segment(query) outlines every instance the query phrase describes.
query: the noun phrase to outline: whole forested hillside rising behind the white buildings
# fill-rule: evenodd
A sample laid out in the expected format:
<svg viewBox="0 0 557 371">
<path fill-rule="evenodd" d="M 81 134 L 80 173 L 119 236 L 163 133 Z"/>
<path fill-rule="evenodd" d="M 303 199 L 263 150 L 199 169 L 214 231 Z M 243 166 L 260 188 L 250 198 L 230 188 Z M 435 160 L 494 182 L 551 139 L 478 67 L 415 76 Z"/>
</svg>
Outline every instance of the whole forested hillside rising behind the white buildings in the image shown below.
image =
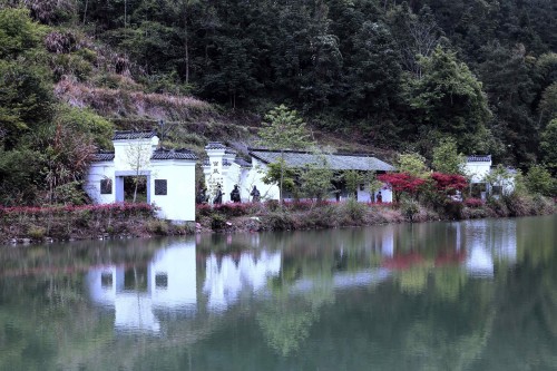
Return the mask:
<svg viewBox="0 0 557 371">
<path fill-rule="evenodd" d="M 43 158 L 67 137 L 102 146 L 126 120 L 278 104 L 373 147 L 431 158 L 452 136 L 466 154 L 557 168 L 555 0 L 0 3 L 0 175 L 39 160 L 3 189 L 72 179 L 80 168 Z"/>
</svg>

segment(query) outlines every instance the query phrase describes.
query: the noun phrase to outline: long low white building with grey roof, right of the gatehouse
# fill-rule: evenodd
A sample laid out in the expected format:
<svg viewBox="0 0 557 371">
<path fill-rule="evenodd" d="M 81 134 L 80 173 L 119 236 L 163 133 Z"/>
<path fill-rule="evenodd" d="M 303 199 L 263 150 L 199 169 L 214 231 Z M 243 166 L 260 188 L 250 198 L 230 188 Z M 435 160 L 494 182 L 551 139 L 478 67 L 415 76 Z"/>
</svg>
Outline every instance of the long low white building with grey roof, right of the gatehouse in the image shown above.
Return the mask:
<svg viewBox="0 0 557 371">
<path fill-rule="evenodd" d="M 326 154 L 319 157 L 315 154 L 301 150 L 270 150 L 261 148 L 248 148 L 251 163 L 236 157 L 236 152 L 227 148 L 218 141 L 209 143 L 205 150 L 207 159 L 204 163 L 203 170 L 209 197 L 213 198 L 217 184 L 223 188 L 223 202 L 229 201 L 229 194 L 234 185 L 241 189 L 243 202 L 250 201 L 250 193 L 254 186 L 257 187 L 262 199 L 278 199 L 280 191 L 276 184 L 265 184 L 263 177 L 268 170 L 268 164 L 276 163 L 284 158 L 286 165 L 291 168 L 301 168 L 306 165 L 328 163 L 328 167 L 336 173 L 346 170 L 375 172 L 378 174 L 392 172 L 394 167 L 369 155 L 369 154 Z M 348 197 L 343 183 L 335 185 L 338 193 L 331 193 L 328 197 L 331 201 Z M 383 202 L 392 202 L 392 193 L 387 187 L 381 191 Z M 336 197 L 338 195 L 338 197 Z M 378 193 L 371 195 L 368 185 L 362 183 L 358 187 L 358 199 L 361 202 L 373 202 Z M 285 198 L 289 198 L 287 196 Z"/>
</svg>

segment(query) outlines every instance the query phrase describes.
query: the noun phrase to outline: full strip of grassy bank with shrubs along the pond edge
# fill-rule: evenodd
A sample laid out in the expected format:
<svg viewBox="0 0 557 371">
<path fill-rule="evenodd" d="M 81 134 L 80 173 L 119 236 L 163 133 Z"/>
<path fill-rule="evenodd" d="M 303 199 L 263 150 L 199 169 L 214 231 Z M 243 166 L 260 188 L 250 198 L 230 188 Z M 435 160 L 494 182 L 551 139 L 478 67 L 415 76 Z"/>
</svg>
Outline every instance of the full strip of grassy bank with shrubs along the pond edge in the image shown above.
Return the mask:
<svg viewBox="0 0 557 371">
<path fill-rule="evenodd" d="M 281 207 L 265 203 L 199 205 L 197 225 L 176 225 L 155 217 L 148 204 L 109 204 L 59 207 L 0 208 L 0 243 L 40 243 L 48 241 L 149 237 L 197 232 L 261 232 L 315 230 L 403 222 L 512 217 L 551 214 L 555 201 L 539 195 L 512 195 L 482 202 L 423 205 L 414 201 L 400 204 L 365 204 L 349 199 L 331 202 L 291 202 Z"/>
</svg>

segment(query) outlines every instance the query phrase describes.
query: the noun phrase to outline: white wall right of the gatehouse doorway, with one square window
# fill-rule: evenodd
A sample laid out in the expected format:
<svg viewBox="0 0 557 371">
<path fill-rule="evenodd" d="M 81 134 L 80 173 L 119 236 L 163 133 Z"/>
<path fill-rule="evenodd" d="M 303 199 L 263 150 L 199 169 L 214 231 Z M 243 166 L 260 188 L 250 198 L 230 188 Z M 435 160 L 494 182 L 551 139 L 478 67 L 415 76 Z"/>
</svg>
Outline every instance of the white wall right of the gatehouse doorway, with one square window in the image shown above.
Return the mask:
<svg viewBox="0 0 557 371">
<path fill-rule="evenodd" d="M 150 202 L 160 207 L 157 217 L 195 221 L 195 160 L 152 160 Z M 167 194 L 155 195 L 155 179 L 167 180 Z"/>
</svg>

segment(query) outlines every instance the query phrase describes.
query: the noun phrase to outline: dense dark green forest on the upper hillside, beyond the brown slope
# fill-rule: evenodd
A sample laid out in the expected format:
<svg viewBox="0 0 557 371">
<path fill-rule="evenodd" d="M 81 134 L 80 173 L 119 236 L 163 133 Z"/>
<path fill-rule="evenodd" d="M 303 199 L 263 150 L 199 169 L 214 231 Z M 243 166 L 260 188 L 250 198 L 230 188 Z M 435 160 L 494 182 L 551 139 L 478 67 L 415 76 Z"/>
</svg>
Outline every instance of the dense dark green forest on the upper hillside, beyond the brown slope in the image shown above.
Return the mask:
<svg viewBox="0 0 557 371">
<path fill-rule="evenodd" d="M 527 166 L 555 116 L 557 4 L 541 0 L 77 1 L 70 16 L 175 89 L 285 102 L 330 130 Z"/>
</svg>

